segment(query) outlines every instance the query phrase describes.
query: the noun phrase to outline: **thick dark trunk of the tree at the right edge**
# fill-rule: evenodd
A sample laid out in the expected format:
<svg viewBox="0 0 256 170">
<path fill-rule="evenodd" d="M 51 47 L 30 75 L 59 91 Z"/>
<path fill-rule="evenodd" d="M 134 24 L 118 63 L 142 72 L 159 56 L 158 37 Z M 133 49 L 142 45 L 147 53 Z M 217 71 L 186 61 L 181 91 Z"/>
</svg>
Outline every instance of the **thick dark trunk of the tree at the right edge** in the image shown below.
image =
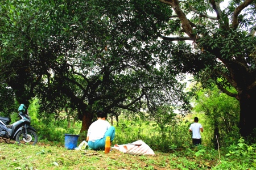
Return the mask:
<svg viewBox="0 0 256 170">
<path fill-rule="evenodd" d="M 240 95 L 240 134 L 242 137 L 255 137 L 256 121 L 254 118 L 256 104 L 256 88 Z M 256 129 L 255 129 L 256 130 Z M 253 133 L 254 132 L 254 133 Z"/>
</svg>

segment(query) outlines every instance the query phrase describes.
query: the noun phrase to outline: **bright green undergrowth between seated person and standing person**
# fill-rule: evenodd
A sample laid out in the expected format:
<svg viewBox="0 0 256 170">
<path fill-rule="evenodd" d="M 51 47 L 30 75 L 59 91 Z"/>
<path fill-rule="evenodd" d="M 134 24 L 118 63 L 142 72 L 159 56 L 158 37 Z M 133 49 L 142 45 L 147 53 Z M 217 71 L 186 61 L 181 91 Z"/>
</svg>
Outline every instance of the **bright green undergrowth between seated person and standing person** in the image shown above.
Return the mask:
<svg viewBox="0 0 256 170">
<path fill-rule="evenodd" d="M 170 120 L 171 121 L 171 120 Z M 164 129 L 150 121 L 124 121 L 116 127 L 114 142 L 131 143 L 141 139 L 155 150 L 169 152 L 180 147 L 188 147 L 191 136 L 183 122 L 172 122 Z"/>
</svg>

